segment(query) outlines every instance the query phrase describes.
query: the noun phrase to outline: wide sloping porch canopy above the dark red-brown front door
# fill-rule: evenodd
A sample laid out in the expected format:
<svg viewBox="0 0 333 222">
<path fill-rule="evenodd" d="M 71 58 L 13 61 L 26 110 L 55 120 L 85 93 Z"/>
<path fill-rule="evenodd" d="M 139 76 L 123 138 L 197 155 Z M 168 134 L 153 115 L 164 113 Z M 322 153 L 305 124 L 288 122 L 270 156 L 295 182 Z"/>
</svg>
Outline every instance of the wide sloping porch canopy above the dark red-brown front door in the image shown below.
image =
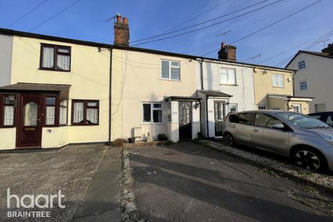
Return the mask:
<svg viewBox="0 0 333 222">
<path fill-rule="evenodd" d="M 69 98 L 69 88 L 71 85 L 62 84 L 41 84 L 41 83 L 16 83 L 0 87 L 0 92 L 19 92 L 19 93 L 51 93 L 58 94 L 60 99 Z"/>
</svg>

